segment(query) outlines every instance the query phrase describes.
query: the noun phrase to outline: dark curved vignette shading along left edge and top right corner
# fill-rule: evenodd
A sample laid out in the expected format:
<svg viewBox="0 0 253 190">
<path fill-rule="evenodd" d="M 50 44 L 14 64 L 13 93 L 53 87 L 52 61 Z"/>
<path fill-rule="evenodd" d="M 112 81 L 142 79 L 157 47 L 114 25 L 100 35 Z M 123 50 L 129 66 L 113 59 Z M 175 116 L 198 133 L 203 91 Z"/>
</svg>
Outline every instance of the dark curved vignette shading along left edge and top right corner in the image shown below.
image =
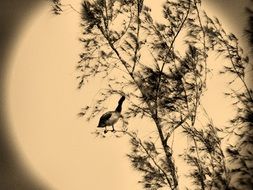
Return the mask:
<svg viewBox="0 0 253 190">
<path fill-rule="evenodd" d="M 15 147 L 9 139 L 7 134 L 8 121 L 6 120 L 4 97 L 4 78 L 6 76 L 5 70 L 9 53 L 12 47 L 15 46 L 16 36 L 22 28 L 22 23 L 25 22 L 28 16 L 31 16 L 33 11 L 38 9 L 40 3 L 45 0 L 1 0 L 0 4 L 0 189 L 3 190 L 40 190 L 48 189 L 41 183 L 35 180 L 22 166 L 17 159 Z M 227 16 L 233 15 L 236 10 L 238 0 L 213 0 L 215 6 L 223 11 L 226 11 Z M 248 24 L 252 24 L 252 13 L 245 16 L 250 17 Z M 221 19 L 222 20 L 222 19 Z M 234 20 L 234 25 L 238 20 Z M 253 49 L 252 43 L 252 25 L 249 25 L 249 41 Z M 253 54 L 253 53 L 252 53 Z"/>
</svg>

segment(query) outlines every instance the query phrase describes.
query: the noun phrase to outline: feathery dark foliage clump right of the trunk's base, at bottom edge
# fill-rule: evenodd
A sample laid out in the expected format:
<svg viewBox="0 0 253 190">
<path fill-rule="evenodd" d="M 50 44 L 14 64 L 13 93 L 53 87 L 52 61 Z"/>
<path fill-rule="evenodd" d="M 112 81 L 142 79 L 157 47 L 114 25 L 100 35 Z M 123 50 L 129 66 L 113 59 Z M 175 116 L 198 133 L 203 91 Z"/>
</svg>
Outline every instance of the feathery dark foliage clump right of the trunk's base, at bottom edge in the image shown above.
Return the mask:
<svg viewBox="0 0 253 190">
<path fill-rule="evenodd" d="M 188 177 L 201 190 L 229 187 L 230 174 L 221 145 L 222 138 L 218 132 L 222 130 L 211 121 L 201 129 L 184 128 L 184 133 L 194 142 L 183 154 L 184 159 L 192 166 Z"/>
</svg>

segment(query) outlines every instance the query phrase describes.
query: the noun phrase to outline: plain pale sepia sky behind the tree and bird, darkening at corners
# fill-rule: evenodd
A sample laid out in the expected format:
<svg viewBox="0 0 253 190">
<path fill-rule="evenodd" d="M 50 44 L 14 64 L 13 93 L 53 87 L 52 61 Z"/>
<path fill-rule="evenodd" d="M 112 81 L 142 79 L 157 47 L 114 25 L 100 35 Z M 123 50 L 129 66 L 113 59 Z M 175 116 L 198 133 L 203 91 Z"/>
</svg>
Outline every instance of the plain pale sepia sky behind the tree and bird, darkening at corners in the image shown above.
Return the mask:
<svg viewBox="0 0 253 190">
<path fill-rule="evenodd" d="M 157 2 L 147 1 L 159 19 Z M 72 4 L 78 8 L 78 3 Z M 248 4 L 203 0 L 207 12 L 239 37 L 246 52 Z M 77 116 L 106 85 L 98 78 L 77 90 L 79 15 L 66 7 L 57 17 L 45 0 L 4 0 L 0 7 L 0 189 L 142 189 L 140 175 L 126 157 L 128 138 L 96 138 L 92 132 L 98 121 L 87 123 Z M 215 68 L 210 81 L 206 106 L 214 122 L 225 125 L 233 110 L 222 95 L 226 86 Z M 108 110 L 117 99 L 112 97 Z M 129 128 L 151 125 L 138 119 L 131 123 Z M 180 189 L 184 185 L 189 186 Z"/>
</svg>

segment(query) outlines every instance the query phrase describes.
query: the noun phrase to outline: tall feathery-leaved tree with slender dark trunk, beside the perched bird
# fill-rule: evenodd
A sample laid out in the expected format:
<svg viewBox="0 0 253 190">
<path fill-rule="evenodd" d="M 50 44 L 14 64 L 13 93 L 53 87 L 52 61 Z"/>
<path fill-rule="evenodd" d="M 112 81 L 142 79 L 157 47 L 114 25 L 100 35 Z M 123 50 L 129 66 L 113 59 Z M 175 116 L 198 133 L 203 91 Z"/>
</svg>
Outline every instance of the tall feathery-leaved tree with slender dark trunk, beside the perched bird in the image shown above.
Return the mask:
<svg viewBox="0 0 253 190">
<path fill-rule="evenodd" d="M 54 13 L 62 13 L 62 6 L 60 0 L 53 1 Z M 197 189 L 233 189 L 234 181 L 240 182 L 236 175 L 250 177 L 245 174 L 248 166 L 238 171 L 226 161 L 234 158 L 234 150 L 230 147 L 228 154 L 224 153 L 220 134 L 232 134 L 232 127 L 228 131 L 215 127 L 207 113 L 208 122 L 196 124 L 199 115 L 205 113 L 201 97 L 207 89 L 208 55 L 212 52 L 230 60 L 221 74 L 234 75 L 244 86 L 241 93 L 227 93 L 237 99 L 235 106 L 243 107 L 239 106 L 239 115 L 231 124 L 238 127 L 238 122 L 248 122 L 242 119 L 252 114 L 252 91 L 244 78 L 249 58 L 243 55 L 237 38 L 227 34 L 217 18 L 201 10 L 200 0 L 166 1 L 159 22 L 153 20 L 144 0 L 83 1 L 79 14 L 84 48 L 77 65 L 79 88 L 96 76 L 108 81 L 97 107 L 87 106 L 80 115 L 94 119 L 104 111 L 102 102 L 111 94 L 124 94 L 128 98 L 125 124 L 134 117 L 153 121 L 156 133 L 148 138 L 126 128 L 116 132 L 130 137 L 132 151 L 128 157 L 142 173 L 141 183 L 146 189 L 178 189 L 176 155 L 170 143 L 177 131 L 191 139 L 190 151 L 182 157 L 191 166 L 189 177 Z M 185 45 L 179 46 L 180 41 Z M 121 71 L 121 77 L 115 78 L 115 70 Z M 246 144 L 250 138 L 247 136 Z"/>
</svg>

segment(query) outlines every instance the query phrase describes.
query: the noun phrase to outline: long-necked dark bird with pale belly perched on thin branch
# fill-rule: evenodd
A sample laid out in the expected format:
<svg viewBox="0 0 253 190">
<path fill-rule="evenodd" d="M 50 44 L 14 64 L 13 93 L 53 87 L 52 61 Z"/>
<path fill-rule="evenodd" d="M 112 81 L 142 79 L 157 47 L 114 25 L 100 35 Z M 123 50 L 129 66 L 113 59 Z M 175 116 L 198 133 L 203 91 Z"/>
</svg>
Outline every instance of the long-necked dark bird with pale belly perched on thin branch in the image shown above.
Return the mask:
<svg viewBox="0 0 253 190">
<path fill-rule="evenodd" d="M 107 133 L 106 126 L 112 126 L 112 131 L 115 131 L 114 124 L 119 120 L 121 116 L 122 104 L 125 100 L 125 96 L 122 96 L 118 101 L 118 106 L 114 111 L 108 111 L 104 113 L 98 123 L 98 128 L 105 128 L 104 133 Z"/>
</svg>

